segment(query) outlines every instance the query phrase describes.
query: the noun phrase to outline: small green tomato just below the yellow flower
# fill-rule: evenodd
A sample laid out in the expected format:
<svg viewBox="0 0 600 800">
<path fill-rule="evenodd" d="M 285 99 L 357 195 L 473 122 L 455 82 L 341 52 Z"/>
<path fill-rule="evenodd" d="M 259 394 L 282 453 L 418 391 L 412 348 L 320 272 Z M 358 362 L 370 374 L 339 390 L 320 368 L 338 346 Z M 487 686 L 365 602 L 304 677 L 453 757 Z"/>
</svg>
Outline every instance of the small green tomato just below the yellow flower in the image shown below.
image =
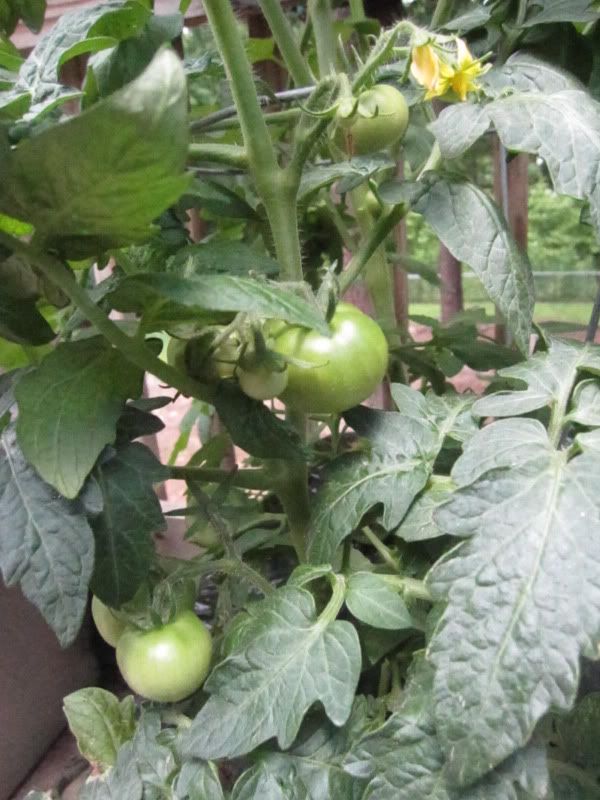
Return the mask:
<svg viewBox="0 0 600 800">
<path fill-rule="evenodd" d="M 367 89 L 351 116 L 338 115 L 335 140 L 356 155 L 369 155 L 398 142 L 408 127 L 404 96 L 386 83 Z"/>
</svg>

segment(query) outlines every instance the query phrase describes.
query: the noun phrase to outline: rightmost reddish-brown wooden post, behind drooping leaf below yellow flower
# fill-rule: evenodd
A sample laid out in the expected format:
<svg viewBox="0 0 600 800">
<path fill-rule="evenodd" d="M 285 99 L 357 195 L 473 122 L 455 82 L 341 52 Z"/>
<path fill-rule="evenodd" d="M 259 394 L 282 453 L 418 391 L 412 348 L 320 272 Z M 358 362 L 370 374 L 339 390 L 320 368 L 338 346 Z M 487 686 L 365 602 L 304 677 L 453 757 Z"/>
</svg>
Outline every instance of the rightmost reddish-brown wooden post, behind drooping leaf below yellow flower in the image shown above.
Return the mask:
<svg viewBox="0 0 600 800">
<path fill-rule="evenodd" d="M 529 156 L 519 153 L 510 160 L 497 136 L 493 137 L 494 153 L 494 194 L 502 209 L 508 227 L 516 243 L 527 250 L 528 200 L 529 200 Z M 496 323 L 495 339 L 506 342 L 506 329 L 503 323 Z"/>
</svg>

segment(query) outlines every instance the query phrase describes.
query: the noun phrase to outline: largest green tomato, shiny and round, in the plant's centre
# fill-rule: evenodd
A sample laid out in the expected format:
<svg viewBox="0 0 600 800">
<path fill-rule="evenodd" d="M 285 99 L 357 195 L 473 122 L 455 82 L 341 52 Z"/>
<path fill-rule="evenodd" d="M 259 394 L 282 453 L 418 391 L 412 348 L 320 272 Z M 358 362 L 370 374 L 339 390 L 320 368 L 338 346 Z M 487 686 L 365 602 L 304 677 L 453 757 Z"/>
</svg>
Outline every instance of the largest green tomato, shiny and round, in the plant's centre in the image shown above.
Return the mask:
<svg viewBox="0 0 600 800">
<path fill-rule="evenodd" d="M 386 373 L 387 341 L 374 320 L 339 303 L 329 327 L 330 337 L 283 322 L 271 327 L 275 352 L 314 365 L 288 364 L 281 399 L 299 411 L 326 414 L 352 408 L 373 393 Z"/>
</svg>

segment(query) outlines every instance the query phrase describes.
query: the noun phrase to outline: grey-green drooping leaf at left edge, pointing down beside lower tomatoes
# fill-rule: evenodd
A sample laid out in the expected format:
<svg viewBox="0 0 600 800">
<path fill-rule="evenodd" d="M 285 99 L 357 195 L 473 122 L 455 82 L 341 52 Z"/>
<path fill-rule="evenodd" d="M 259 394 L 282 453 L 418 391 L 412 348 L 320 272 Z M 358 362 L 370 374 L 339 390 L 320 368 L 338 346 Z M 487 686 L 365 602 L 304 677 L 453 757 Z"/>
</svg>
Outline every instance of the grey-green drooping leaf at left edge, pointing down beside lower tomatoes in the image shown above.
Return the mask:
<svg viewBox="0 0 600 800">
<path fill-rule="evenodd" d="M 12 425 L 0 433 L 0 529 L 4 582 L 19 583 L 60 643 L 70 644 L 87 605 L 92 531 L 80 504 L 58 495 L 27 463 Z"/>
</svg>

